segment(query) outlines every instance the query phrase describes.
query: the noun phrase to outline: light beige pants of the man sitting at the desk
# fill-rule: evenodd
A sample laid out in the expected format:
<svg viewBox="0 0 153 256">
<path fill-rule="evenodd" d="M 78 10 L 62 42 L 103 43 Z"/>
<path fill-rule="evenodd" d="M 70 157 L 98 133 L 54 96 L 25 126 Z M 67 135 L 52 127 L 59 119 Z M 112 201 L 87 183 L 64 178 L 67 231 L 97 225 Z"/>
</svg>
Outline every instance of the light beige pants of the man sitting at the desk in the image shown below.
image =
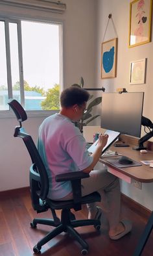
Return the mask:
<svg viewBox="0 0 153 256">
<path fill-rule="evenodd" d="M 110 228 L 116 227 L 120 220 L 121 192 L 119 179 L 107 171 L 106 166 L 102 170 L 93 170 L 89 178 L 82 179 L 82 196 L 102 190 L 102 211 L 106 213 Z M 72 199 L 72 193 L 60 200 Z M 87 205 L 89 211 L 95 208 L 95 203 Z"/>
</svg>

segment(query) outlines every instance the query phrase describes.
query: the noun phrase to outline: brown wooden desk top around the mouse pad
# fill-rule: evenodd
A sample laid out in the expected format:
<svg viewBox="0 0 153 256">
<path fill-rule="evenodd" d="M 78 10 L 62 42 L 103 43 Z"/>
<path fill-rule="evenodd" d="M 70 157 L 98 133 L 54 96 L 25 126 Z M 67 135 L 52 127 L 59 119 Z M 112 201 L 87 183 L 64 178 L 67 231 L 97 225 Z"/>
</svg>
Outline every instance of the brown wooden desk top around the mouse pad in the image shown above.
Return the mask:
<svg viewBox="0 0 153 256">
<path fill-rule="evenodd" d="M 130 159 L 133 159 L 137 162 L 140 162 L 140 160 L 153 160 L 153 151 L 148 151 L 147 153 L 140 153 L 140 151 L 136 151 L 132 149 L 134 147 L 133 144 L 129 144 L 130 147 L 114 147 L 111 146 L 110 150 L 117 151 L 117 153 L 121 153 L 122 155 L 126 155 L 126 157 L 129 157 Z M 117 156 L 119 157 L 119 156 Z M 111 157 L 115 158 L 115 157 Z M 124 168 L 118 168 L 113 166 L 113 164 L 110 164 L 110 162 L 107 162 L 107 159 L 110 159 L 110 157 L 100 157 L 99 162 L 102 164 L 106 164 L 106 166 L 110 167 L 110 169 L 115 170 L 113 174 L 118 172 L 123 173 L 123 175 L 126 175 L 127 177 L 130 177 L 134 179 L 135 181 L 140 181 L 141 183 L 151 183 L 153 182 L 153 168 L 150 168 L 150 166 L 142 164 L 142 166 L 134 166 L 134 167 L 126 167 Z M 121 177 L 122 175 L 117 175 L 118 177 Z M 126 181 L 126 179 L 125 179 Z M 130 179 L 129 179 L 130 183 Z"/>
</svg>

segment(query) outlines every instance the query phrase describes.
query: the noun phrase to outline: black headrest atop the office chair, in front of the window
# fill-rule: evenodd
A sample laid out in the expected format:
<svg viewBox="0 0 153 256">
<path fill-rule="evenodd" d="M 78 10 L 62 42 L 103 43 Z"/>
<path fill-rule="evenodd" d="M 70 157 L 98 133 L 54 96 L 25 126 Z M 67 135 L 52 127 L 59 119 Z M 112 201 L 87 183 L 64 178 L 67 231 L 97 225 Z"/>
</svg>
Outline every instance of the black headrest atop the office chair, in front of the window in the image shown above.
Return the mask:
<svg viewBox="0 0 153 256">
<path fill-rule="evenodd" d="M 14 114 L 16 114 L 16 118 L 19 122 L 23 122 L 27 120 L 27 114 L 21 104 L 16 101 L 16 99 L 8 99 L 8 105 L 11 107 L 11 109 L 14 111 Z"/>
</svg>

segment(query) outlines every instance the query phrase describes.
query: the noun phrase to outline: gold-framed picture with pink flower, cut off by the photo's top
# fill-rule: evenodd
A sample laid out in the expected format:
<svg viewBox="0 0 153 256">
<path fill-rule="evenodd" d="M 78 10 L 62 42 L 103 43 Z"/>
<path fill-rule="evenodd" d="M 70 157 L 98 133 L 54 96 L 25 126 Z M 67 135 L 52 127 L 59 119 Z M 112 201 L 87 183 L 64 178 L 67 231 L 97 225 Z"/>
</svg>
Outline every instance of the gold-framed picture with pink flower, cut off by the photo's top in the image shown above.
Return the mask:
<svg viewBox="0 0 153 256">
<path fill-rule="evenodd" d="M 152 0 L 134 0 L 130 3 L 129 47 L 150 42 Z"/>
</svg>

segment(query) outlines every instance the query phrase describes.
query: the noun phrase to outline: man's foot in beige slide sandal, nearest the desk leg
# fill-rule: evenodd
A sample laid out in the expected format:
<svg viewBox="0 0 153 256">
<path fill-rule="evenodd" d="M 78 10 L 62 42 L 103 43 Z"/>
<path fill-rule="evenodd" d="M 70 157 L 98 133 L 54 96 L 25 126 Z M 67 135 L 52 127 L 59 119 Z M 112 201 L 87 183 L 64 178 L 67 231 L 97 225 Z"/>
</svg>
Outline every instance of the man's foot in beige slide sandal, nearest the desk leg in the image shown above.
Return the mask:
<svg viewBox="0 0 153 256">
<path fill-rule="evenodd" d="M 114 231 L 110 231 L 109 236 L 112 240 L 118 240 L 132 230 L 132 222 L 130 220 L 121 220 Z"/>
</svg>

